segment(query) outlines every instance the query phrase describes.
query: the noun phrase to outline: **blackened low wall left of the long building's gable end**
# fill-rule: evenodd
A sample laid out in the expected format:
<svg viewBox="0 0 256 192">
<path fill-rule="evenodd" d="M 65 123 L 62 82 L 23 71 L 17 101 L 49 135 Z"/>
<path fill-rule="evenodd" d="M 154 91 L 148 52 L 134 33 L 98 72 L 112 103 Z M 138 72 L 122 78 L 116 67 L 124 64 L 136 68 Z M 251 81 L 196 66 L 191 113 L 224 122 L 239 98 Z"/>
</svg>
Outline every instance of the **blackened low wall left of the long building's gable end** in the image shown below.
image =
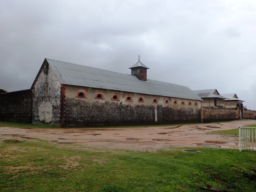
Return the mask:
<svg viewBox="0 0 256 192">
<path fill-rule="evenodd" d="M 0 94 L 0 121 L 12 123 L 32 122 L 32 90 Z"/>
</svg>

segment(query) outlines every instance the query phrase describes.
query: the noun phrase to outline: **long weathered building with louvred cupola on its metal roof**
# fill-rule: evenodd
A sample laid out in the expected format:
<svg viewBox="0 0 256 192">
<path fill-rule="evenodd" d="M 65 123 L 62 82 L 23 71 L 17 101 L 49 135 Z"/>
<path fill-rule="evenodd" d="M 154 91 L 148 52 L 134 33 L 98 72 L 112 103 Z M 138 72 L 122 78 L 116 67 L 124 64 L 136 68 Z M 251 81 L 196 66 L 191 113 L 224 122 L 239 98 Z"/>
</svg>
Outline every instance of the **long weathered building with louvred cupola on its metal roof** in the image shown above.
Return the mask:
<svg viewBox="0 0 256 192">
<path fill-rule="evenodd" d="M 60 126 L 200 122 L 202 99 L 186 86 L 45 59 L 34 83 L 33 123 Z"/>
</svg>

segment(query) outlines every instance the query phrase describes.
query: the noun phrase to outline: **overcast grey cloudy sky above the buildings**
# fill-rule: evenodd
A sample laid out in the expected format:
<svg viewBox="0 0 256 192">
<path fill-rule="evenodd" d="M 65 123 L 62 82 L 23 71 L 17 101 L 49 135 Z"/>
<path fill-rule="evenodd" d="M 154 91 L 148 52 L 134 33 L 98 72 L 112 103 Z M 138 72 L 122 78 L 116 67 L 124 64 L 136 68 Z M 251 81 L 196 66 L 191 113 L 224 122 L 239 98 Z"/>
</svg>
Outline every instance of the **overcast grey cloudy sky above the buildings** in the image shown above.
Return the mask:
<svg viewBox="0 0 256 192">
<path fill-rule="evenodd" d="M 256 1 L 2 0 L 0 89 L 29 89 L 44 58 L 236 93 L 256 110 Z"/>
</svg>

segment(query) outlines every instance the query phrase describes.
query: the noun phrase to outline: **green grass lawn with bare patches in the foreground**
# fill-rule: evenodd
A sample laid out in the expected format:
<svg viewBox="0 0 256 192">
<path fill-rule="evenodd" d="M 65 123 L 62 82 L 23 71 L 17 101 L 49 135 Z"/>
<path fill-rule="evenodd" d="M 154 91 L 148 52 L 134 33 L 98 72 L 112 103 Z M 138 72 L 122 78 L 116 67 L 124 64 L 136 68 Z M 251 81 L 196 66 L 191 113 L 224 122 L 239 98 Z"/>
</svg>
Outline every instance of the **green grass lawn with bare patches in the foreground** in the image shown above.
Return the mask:
<svg viewBox="0 0 256 192">
<path fill-rule="evenodd" d="M 255 191 L 256 152 L 134 152 L 42 140 L 0 143 L 0 191 Z"/>
</svg>

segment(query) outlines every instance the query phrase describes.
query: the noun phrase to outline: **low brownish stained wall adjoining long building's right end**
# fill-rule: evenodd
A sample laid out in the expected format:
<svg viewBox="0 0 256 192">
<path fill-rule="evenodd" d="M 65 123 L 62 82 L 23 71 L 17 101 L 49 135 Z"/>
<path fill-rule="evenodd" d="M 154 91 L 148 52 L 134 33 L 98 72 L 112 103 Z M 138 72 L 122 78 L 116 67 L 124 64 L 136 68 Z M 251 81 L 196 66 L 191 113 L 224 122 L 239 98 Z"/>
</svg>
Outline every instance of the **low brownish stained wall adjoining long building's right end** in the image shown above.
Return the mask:
<svg viewBox="0 0 256 192">
<path fill-rule="evenodd" d="M 239 119 L 239 109 L 202 107 L 203 123 Z"/>
</svg>

